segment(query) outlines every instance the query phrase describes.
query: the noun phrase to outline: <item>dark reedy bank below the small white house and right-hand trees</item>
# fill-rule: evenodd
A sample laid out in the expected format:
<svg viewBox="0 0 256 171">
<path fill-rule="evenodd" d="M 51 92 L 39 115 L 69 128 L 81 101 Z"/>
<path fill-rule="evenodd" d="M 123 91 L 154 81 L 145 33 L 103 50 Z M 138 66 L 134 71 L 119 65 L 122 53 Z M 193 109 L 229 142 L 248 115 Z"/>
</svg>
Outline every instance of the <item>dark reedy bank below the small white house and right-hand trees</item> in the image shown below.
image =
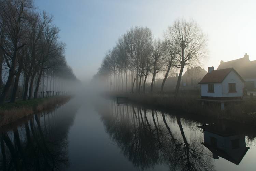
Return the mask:
<svg viewBox="0 0 256 171">
<path fill-rule="evenodd" d="M 224 119 L 239 123 L 256 125 L 256 101 L 248 100 L 240 103 L 230 103 L 221 111 L 219 103 L 205 103 L 202 106 L 200 96 L 195 94 L 180 94 L 178 98 L 174 95 L 161 96 L 159 94 L 131 94 L 131 93 L 107 93 L 106 97 L 128 97 L 134 104 L 165 110 L 182 111 L 188 117 L 207 117 L 212 119 Z"/>
</svg>

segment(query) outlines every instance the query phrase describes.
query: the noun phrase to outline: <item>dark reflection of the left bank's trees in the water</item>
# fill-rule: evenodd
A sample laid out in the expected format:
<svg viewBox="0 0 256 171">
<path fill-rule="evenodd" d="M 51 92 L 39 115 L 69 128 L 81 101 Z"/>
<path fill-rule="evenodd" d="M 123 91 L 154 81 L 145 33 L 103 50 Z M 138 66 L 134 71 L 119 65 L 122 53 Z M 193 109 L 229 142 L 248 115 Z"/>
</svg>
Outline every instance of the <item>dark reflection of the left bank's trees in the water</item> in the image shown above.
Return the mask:
<svg viewBox="0 0 256 171">
<path fill-rule="evenodd" d="M 67 133 L 76 109 L 70 106 L 34 114 L 22 123 L 2 128 L 1 170 L 44 171 L 67 167 Z"/>
</svg>

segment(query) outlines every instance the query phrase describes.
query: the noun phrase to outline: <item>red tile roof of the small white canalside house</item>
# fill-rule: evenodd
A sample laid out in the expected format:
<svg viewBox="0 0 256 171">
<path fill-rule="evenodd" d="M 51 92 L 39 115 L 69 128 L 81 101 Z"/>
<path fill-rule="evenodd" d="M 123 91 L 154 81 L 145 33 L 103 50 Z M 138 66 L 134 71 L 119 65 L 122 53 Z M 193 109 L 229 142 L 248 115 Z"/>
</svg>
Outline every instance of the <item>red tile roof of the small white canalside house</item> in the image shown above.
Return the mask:
<svg viewBox="0 0 256 171">
<path fill-rule="evenodd" d="M 226 68 L 226 69 L 213 70 L 211 73 L 207 73 L 198 84 L 221 83 L 231 71 L 234 71 L 240 77 L 240 79 L 244 82 L 244 80 L 237 73 L 236 70 L 234 70 L 233 68 Z"/>
</svg>

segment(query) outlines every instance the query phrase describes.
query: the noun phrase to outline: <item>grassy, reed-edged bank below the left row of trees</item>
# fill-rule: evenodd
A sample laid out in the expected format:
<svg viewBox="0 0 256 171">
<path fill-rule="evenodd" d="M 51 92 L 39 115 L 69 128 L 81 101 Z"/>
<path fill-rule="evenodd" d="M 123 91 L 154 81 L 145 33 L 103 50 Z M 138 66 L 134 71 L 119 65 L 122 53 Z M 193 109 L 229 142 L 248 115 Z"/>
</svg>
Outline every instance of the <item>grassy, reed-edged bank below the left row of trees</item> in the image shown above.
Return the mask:
<svg viewBox="0 0 256 171">
<path fill-rule="evenodd" d="M 69 101 L 71 96 L 53 96 L 43 99 L 31 99 L 4 103 L 0 105 L 0 127 L 18 119 L 43 110 L 50 110 Z"/>
</svg>

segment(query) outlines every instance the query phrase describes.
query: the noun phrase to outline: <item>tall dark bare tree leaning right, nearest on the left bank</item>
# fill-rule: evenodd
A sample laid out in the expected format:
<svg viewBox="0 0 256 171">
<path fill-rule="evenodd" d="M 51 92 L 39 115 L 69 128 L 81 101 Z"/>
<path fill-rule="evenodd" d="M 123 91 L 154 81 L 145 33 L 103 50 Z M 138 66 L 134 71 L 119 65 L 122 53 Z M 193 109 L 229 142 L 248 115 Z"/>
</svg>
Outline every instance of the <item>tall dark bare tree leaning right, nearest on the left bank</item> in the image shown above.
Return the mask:
<svg viewBox="0 0 256 171">
<path fill-rule="evenodd" d="M 1 0 L 0 17 L 5 22 L 5 34 L 8 40 L 5 44 L 0 44 L 5 61 L 9 67 L 9 74 L 3 92 L 0 96 L 2 104 L 16 75 L 17 56 L 19 50 L 25 45 L 22 41 L 24 36 L 24 26 L 29 11 L 33 8 L 31 0 Z"/>
</svg>

